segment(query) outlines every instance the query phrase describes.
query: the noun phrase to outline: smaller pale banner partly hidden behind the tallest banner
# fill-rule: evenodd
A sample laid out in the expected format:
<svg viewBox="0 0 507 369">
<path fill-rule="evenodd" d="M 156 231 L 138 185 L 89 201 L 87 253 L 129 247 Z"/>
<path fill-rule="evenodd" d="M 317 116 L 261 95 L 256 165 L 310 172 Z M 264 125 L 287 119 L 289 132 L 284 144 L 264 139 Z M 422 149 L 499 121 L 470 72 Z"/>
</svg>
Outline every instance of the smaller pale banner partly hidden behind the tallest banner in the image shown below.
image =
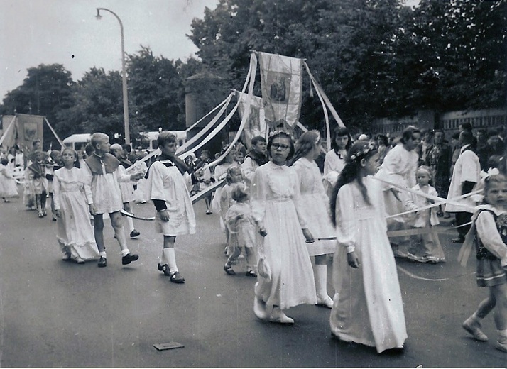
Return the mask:
<svg viewBox="0 0 507 369">
<path fill-rule="evenodd" d="M 248 94 L 243 94 L 236 91 L 236 97 L 239 99 L 239 116 L 243 119 L 246 111 L 246 99 Z M 251 139 L 255 136 L 266 137 L 266 121 L 264 120 L 264 109 L 262 106 L 262 99 L 253 96 L 250 101 L 249 117 L 246 119 L 245 126 L 241 132 L 241 140 L 247 149 L 251 148 Z"/>
</svg>

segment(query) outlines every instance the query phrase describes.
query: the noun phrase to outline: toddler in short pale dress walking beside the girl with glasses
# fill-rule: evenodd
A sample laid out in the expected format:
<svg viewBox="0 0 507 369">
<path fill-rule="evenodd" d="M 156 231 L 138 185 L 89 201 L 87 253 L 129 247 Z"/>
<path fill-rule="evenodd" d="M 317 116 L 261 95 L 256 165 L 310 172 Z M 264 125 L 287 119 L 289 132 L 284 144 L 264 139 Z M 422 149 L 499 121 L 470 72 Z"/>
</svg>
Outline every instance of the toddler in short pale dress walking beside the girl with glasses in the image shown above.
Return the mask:
<svg viewBox="0 0 507 369">
<path fill-rule="evenodd" d="M 227 259 L 227 263 L 224 265 L 224 270 L 228 275 L 235 275 L 236 272 L 232 269 L 232 264 L 241 254 L 241 250 L 244 250 L 246 254 L 245 275 L 247 277 L 257 277 L 254 271 L 254 265 L 256 265 L 254 253 L 256 225 L 249 204 L 250 191 L 243 183 L 231 184 L 230 187 L 234 204 L 227 210 L 224 222 L 230 232 L 229 241 L 231 245 L 234 245 L 234 248 L 229 259 Z"/>
</svg>

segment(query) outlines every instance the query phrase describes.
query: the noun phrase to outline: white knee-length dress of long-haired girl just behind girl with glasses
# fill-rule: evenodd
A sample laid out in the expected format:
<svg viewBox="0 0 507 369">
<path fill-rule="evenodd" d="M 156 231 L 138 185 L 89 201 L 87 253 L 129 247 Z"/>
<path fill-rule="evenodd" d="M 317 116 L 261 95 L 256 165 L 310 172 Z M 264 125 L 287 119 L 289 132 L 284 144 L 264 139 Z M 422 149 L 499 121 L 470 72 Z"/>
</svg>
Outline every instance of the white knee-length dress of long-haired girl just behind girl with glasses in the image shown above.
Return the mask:
<svg viewBox="0 0 507 369">
<path fill-rule="evenodd" d="M 334 227 L 329 217 L 329 197 L 327 197 L 322 175 L 315 161 L 300 158 L 293 164 L 298 173 L 301 191 L 301 204 L 305 209 L 307 228 L 315 238 L 314 243 L 307 243 L 310 256 L 334 253 L 336 241 L 317 238 L 332 238 L 335 236 Z"/>
</svg>

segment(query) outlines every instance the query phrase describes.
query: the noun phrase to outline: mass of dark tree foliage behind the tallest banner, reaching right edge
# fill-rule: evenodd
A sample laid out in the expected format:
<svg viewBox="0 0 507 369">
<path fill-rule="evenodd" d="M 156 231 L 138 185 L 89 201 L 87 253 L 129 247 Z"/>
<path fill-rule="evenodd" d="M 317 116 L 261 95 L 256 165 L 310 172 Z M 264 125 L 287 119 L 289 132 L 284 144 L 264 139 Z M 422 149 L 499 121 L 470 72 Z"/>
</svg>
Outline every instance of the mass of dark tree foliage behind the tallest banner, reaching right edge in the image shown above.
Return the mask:
<svg viewBox="0 0 507 369">
<path fill-rule="evenodd" d="M 304 57 L 342 119 L 504 106 L 506 1 L 221 0 L 192 22 L 203 64 L 241 85 L 249 50 Z M 322 126 L 305 81 L 301 121 Z"/>
</svg>

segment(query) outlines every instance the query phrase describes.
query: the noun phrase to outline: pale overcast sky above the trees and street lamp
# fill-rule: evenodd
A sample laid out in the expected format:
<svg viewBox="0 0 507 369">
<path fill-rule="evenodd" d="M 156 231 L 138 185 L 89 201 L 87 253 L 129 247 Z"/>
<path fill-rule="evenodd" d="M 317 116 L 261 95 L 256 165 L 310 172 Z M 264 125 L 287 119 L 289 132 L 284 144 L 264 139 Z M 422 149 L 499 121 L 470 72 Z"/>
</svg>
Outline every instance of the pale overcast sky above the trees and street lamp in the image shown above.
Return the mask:
<svg viewBox="0 0 507 369">
<path fill-rule="evenodd" d="M 125 52 L 141 45 L 170 60 L 195 56 L 190 34 L 193 18 L 218 0 L 0 0 L 0 101 L 23 84 L 29 67 L 62 64 L 75 81 L 92 67 L 121 71 L 121 35 Z"/>
</svg>

